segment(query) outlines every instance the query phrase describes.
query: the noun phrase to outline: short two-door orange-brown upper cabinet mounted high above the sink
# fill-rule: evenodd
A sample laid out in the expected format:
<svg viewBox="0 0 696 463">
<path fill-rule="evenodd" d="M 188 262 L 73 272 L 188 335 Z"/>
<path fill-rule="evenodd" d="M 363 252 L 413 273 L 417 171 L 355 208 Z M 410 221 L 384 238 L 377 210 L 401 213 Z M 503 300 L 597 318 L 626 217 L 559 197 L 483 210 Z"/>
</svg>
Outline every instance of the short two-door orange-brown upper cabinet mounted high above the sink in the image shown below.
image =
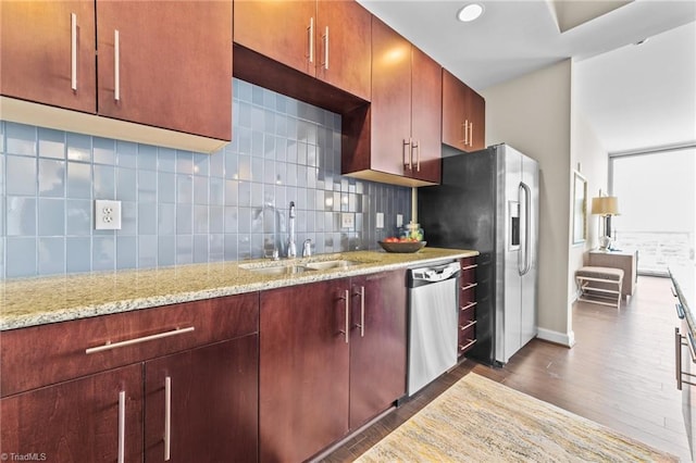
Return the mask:
<svg viewBox="0 0 696 463">
<path fill-rule="evenodd" d="M 235 43 L 349 95 L 370 100 L 371 14 L 360 3 L 352 0 L 238 0 L 234 9 Z M 243 54 L 243 60 L 246 57 Z M 241 66 L 245 64 L 240 63 Z M 245 77 L 248 78 L 243 72 L 241 78 Z M 263 76 L 259 78 L 263 79 Z M 256 77 L 251 76 L 251 79 L 256 80 Z M 261 84 L 265 83 L 262 80 Z M 296 84 L 289 80 L 285 85 Z M 284 88 L 283 83 L 273 86 L 282 92 L 295 90 Z M 322 105 L 321 101 L 318 103 Z"/>
</svg>

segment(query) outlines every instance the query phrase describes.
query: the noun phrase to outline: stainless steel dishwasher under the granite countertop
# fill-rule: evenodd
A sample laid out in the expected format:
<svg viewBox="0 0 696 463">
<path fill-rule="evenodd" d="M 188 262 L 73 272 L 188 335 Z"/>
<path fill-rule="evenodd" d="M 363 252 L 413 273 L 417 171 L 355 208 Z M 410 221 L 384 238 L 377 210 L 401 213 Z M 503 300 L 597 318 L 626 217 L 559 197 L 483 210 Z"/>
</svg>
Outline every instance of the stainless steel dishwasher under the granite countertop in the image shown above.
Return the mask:
<svg viewBox="0 0 696 463">
<path fill-rule="evenodd" d="M 409 396 L 457 364 L 459 273 L 457 262 L 408 272 Z"/>
</svg>

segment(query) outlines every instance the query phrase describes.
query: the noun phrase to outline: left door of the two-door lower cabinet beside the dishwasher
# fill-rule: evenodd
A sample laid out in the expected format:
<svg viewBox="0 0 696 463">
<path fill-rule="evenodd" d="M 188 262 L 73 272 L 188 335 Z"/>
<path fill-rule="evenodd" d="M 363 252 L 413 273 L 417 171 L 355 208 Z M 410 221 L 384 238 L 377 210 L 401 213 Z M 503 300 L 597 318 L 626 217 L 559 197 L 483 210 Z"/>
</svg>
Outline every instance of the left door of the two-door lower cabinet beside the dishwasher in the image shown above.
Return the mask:
<svg viewBox="0 0 696 463">
<path fill-rule="evenodd" d="M 261 461 L 304 461 L 348 433 L 348 279 L 261 292 Z"/>
</svg>

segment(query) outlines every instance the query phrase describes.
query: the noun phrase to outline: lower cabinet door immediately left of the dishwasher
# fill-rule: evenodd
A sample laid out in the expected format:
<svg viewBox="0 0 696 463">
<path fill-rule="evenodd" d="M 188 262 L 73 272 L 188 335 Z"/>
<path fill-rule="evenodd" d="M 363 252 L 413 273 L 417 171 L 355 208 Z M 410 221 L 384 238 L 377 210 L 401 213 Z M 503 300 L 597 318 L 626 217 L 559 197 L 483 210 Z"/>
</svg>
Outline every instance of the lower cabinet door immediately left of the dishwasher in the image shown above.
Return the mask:
<svg viewBox="0 0 696 463">
<path fill-rule="evenodd" d="M 355 277 L 351 287 L 350 428 L 356 429 L 406 393 L 406 271 Z"/>
</svg>

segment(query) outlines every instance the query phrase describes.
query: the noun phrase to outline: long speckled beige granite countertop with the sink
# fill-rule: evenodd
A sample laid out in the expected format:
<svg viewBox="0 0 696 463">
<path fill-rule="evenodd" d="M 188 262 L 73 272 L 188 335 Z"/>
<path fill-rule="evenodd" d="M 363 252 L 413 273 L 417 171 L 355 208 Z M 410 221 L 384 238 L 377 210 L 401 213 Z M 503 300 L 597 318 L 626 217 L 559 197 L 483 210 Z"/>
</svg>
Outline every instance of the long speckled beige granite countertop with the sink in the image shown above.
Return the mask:
<svg viewBox="0 0 696 463">
<path fill-rule="evenodd" d="M 152 270 L 95 272 L 0 281 L 0 330 L 127 312 L 178 302 L 364 275 L 477 255 L 458 249 L 423 248 L 415 253 L 352 251 L 282 261 L 231 261 Z M 269 275 L 248 267 L 345 259 L 347 268 Z M 247 268 L 244 268 L 247 267 Z"/>
</svg>

